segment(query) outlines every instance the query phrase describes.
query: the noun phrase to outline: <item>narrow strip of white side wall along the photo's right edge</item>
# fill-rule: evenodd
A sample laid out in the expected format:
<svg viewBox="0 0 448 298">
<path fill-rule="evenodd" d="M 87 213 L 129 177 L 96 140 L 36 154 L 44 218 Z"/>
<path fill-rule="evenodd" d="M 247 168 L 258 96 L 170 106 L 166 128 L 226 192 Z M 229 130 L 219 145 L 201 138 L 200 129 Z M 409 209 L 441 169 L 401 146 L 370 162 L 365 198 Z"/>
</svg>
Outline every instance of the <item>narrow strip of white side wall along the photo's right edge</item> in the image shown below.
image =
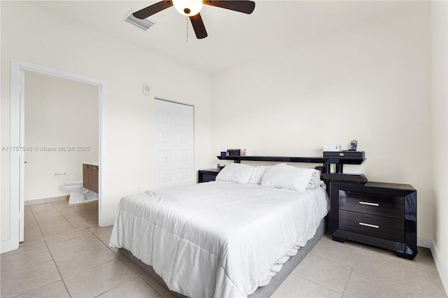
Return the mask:
<svg viewBox="0 0 448 298">
<path fill-rule="evenodd" d="M 434 243 L 448 293 L 448 2 L 433 1 L 433 196 Z"/>
</svg>

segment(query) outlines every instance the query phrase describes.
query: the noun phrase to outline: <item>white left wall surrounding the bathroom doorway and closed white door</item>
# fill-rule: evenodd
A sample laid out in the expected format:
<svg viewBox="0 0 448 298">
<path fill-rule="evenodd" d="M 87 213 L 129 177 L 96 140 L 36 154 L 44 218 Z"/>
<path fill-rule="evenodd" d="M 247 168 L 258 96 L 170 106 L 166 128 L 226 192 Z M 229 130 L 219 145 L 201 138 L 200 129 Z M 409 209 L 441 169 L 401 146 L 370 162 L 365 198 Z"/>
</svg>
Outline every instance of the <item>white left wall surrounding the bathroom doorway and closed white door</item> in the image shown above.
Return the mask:
<svg viewBox="0 0 448 298">
<path fill-rule="evenodd" d="M 9 143 L 11 57 L 106 82 L 100 225 L 113 222 L 122 197 L 152 187 L 154 97 L 195 106 L 195 168 L 209 167 L 210 76 L 48 13 L 32 1 L 0 5 L 1 146 Z M 144 83 L 151 96 L 142 94 Z M 1 240 L 9 239 L 8 164 L 9 155 L 1 152 Z"/>
</svg>

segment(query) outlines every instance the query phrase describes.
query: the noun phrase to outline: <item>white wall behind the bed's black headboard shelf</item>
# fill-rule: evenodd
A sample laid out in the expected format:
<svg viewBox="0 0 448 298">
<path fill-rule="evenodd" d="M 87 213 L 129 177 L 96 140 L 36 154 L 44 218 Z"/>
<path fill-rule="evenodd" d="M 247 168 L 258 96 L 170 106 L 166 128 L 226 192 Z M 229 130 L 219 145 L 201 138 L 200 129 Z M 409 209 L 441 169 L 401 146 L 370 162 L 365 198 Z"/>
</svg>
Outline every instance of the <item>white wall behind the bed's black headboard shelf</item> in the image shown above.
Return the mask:
<svg viewBox="0 0 448 298">
<path fill-rule="evenodd" d="M 430 94 L 430 3 L 409 2 L 212 76 L 211 150 L 307 157 L 357 139 L 367 160 L 344 171 L 413 185 L 433 239 Z"/>
</svg>

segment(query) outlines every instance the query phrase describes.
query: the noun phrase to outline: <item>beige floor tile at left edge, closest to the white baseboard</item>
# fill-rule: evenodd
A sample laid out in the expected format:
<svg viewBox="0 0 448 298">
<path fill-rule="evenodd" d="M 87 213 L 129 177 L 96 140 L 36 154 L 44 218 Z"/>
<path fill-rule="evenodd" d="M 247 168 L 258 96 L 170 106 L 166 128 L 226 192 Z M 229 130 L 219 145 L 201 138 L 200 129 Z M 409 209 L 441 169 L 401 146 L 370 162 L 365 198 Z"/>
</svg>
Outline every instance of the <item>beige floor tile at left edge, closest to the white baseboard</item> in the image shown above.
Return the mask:
<svg viewBox="0 0 448 298">
<path fill-rule="evenodd" d="M 1 275 L 10 274 L 13 271 L 25 269 L 48 260 L 52 260 L 52 257 L 47 246 L 1 257 Z"/>
</svg>

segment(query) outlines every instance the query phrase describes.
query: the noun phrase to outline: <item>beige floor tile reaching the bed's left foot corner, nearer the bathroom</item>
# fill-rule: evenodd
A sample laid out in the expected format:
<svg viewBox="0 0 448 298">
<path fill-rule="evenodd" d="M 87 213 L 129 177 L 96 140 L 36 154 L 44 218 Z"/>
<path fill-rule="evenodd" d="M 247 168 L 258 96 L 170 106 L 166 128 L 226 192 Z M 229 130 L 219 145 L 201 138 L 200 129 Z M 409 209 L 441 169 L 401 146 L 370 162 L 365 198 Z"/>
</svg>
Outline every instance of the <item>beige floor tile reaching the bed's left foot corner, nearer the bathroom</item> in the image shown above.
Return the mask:
<svg viewBox="0 0 448 298">
<path fill-rule="evenodd" d="M 82 248 L 70 255 L 55 259 L 62 277 L 77 274 L 80 271 L 96 267 L 116 258 L 116 255 L 104 244 Z"/>
</svg>

